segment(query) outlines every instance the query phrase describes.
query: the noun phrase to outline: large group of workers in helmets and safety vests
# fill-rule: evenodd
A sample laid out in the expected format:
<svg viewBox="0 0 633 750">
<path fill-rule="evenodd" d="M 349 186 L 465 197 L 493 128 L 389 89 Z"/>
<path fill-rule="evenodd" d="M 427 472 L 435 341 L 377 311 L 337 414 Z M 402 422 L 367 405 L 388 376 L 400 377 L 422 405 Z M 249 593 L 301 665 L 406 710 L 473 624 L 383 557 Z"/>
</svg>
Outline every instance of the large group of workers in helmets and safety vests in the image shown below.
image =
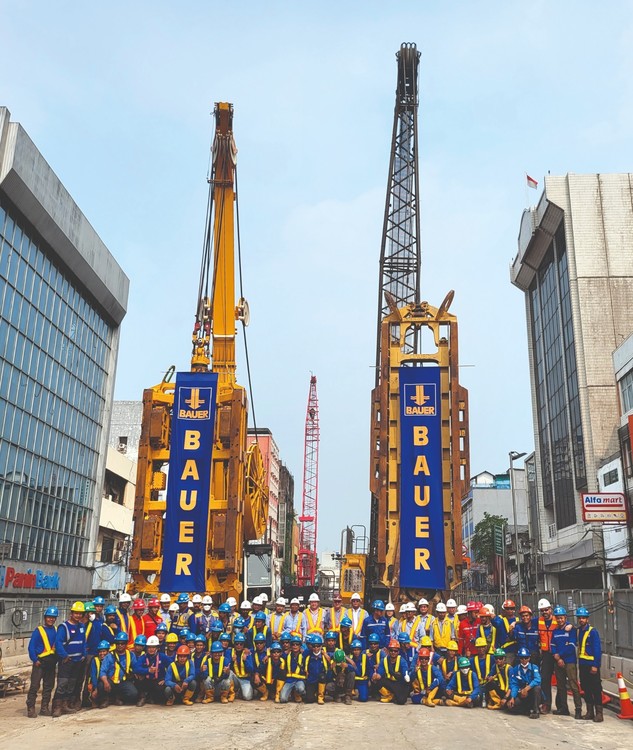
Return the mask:
<svg viewBox="0 0 633 750">
<path fill-rule="evenodd" d="M 49 607 L 31 636 L 33 662 L 27 715 L 61 716 L 80 708 L 145 703 L 172 706 L 243 700 L 322 704 L 326 696 L 383 703 L 485 707 L 539 718 L 557 715 L 602 721 L 601 645 L 584 607 L 568 621 L 546 599 L 535 615 L 511 600 L 491 605 L 420 599 L 363 608 L 359 594 L 331 607 L 311 594 L 277 599 L 234 598 L 214 609 L 210 596 L 169 594 L 149 600 L 129 594 L 118 604 L 102 597 L 75 602 L 57 624 Z M 579 687 L 580 680 L 580 687 Z M 54 694 L 53 694 L 54 691 Z M 581 691 L 587 705 L 582 714 Z M 52 705 L 51 705 L 52 696 Z"/>
</svg>

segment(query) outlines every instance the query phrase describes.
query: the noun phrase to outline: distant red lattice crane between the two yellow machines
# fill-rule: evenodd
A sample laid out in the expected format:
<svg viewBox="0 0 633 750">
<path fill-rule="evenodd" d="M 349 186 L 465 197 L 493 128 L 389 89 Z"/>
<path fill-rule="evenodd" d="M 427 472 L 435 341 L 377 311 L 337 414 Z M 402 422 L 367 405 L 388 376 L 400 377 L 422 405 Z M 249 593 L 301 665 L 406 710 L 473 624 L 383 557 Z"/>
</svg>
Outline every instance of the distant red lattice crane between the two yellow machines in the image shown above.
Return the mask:
<svg viewBox="0 0 633 750">
<path fill-rule="evenodd" d="M 319 399 L 316 376 L 310 377 L 310 393 L 306 410 L 305 451 L 303 455 L 303 503 L 299 523 L 299 586 L 316 583 L 316 534 L 319 507 Z"/>
</svg>

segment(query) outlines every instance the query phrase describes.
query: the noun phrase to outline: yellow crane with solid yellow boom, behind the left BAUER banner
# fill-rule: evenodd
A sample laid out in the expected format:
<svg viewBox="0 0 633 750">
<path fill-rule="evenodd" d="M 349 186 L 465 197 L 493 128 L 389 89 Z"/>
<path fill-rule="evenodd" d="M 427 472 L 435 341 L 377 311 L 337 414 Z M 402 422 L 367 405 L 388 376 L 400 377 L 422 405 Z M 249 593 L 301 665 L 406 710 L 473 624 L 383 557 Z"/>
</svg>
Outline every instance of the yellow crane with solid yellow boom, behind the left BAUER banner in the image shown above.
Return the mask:
<svg viewBox="0 0 633 750">
<path fill-rule="evenodd" d="M 214 108 L 207 220 L 200 269 L 198 302 L 192 334 L 191 372 L 209 383 L 217 378 L 212 453 L 207 475 L 208 497 L 199 498 L 206 513 L 205 591 L 239 596 L 242 591 L 244 543 L 259 538 L 268 516 L 268 486 L 257 443 L 247 441 L 248 401 L 236 382 L 236 321 L 248 323 L 248 305 L 235 301 L 235 173 L 233 105 Z M 161 587 L 169 516 L 183 498 L 165 496 L 175 425 L 172 367 L 164 380 L 143 393 L 143 417 L 134 507 L 130 571 L 132 591 L 157 593 Z M 198 395 L 187 401 L 193 410 Z M 207 407 L 208 408 L 208 407 Z M 179 412 L 180 416 L 180 412 Z M 192 470 L 189 470 L 192 473 Z M 185 474 L 183 474 L 185 476 Z M 171 480 L 171 477 L 170 477 Z M 195 501 L 194 501 L 195 502 Z M 190 504 L 192 504 L 190 502 Z M 193 528 L 193 527 L 192 527 Z M 168 589 L 167 589 L 168 590 Z M 195 590 L 193 584 L 186 590 Z"/>
</svg>

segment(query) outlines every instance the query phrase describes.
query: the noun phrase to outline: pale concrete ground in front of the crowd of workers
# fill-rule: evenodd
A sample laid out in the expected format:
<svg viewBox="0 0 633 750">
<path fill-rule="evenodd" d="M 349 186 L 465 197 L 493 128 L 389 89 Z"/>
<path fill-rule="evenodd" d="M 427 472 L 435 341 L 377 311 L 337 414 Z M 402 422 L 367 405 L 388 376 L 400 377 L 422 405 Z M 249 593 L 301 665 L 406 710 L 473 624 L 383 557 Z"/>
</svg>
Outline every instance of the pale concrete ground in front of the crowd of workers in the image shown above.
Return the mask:
<svg viewBox="0 0 633 750">
<path fill-rule="evenodd" d="M 173 706 L 112 706 L 59 719 L 27 719 L 23 695 L 0 700 L 0 748 L 57 750 L 80 741 L 91 750 L 114 747 L 243 747 L 310 750 L 324 747 L 451 748 L 460 743 L 497 747 L 630 750 L 633 721 L 605 711 L 602 724 L 569 717 L 538 721 L 500 711 L 438 706 L 259 702 Z"/>
</svg>

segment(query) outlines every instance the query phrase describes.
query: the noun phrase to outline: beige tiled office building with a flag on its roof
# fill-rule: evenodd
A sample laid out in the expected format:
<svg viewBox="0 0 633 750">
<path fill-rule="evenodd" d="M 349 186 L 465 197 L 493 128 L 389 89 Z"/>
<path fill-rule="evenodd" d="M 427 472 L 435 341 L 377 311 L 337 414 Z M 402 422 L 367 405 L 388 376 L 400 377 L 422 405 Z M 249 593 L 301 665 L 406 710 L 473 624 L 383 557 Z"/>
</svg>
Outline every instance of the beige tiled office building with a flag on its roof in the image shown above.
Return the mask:
<svg viewBox="0 0 633 750">
<path fill-rule="evenodd" d="M 518 245 L 545 584 L 598 588 L 602 529 L 583 522 L 581 493 L 619 450 L 612 353 L 633 331 L 633 175 L 546 176 Z"/>
</svg>

